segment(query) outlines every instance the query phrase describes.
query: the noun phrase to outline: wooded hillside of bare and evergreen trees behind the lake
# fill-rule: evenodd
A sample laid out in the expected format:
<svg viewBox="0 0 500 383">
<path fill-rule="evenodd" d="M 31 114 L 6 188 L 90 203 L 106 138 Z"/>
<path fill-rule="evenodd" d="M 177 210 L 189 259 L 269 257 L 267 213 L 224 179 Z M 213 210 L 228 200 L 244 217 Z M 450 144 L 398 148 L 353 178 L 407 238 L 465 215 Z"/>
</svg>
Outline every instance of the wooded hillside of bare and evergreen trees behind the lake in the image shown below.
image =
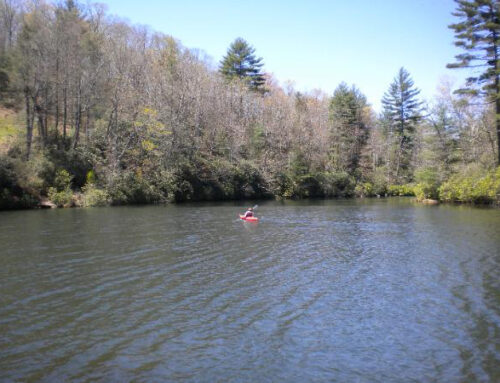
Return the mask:
<svg viewBox="0 0 500 383">
<path fill-rule="evenodd" d="M 415 196 L 500 203 L 500 6 L 458 0 L 432 100 L 300 92 L 237 37 L 213 63 L 99 4 L 0 0 L 0 209 Z M 454 61 L 455 60 L 455 61 Z"/>
</svg>

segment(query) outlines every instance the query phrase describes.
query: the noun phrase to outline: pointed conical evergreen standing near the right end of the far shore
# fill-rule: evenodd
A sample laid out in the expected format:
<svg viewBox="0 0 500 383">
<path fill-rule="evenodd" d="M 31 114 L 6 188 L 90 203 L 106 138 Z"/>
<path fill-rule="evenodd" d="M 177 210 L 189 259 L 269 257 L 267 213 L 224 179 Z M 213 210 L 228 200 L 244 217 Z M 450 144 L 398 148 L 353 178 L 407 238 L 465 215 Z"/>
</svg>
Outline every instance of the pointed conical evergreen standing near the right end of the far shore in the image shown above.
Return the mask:
<svg viewBox="0 0 500 383">
<path fill-rule="evenodd" d="M 410 180 L 413 139 L 421 119 L 422 103 L 417 99 L 420 90 L 413 85 L 410 74 L 401 68 L 382 98 L 382 120 L 395 149 L 390 170 L 396 182 Z"/>
</svg>

